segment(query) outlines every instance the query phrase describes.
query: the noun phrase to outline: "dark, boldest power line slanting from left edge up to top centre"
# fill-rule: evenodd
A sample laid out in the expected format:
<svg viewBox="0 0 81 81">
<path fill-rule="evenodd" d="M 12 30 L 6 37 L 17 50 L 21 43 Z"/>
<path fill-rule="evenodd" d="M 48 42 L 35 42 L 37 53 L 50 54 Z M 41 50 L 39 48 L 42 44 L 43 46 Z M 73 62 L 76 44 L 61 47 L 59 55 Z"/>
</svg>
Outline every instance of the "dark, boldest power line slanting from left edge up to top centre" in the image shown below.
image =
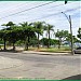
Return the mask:
<svg viewBox="0 0 81 81">
<path fill-rule="evenodd" d="M 40 8 L 40 6 L 50 4 L 50 3 L 53 3 L 53 1 L 52 2 L 48 2 L 48 3 L 40 4 L 40 5 L 37 5 L 37 6 L 32 6 L 32 8 L 29 8 L 29 9 L 23 10 L 23 11 L 19 11 L 19 12 L 16 12 L 14 14 L 10 14 L 10 15 L 4 16 L 4 17 L 1 17 L 1 18 L 5 18 L 5 17 L 9 17 L 9 16 L 13 16 L 13 15 L 16 15 L 16 14 L 19 14 L 19 13 L 23 13 L 23 12 L 26 12 L 26 11 L 29 11 L 29 10 L 32 10 L 32 9 L 37 9 L 37 8 Z"/>
</svg>

